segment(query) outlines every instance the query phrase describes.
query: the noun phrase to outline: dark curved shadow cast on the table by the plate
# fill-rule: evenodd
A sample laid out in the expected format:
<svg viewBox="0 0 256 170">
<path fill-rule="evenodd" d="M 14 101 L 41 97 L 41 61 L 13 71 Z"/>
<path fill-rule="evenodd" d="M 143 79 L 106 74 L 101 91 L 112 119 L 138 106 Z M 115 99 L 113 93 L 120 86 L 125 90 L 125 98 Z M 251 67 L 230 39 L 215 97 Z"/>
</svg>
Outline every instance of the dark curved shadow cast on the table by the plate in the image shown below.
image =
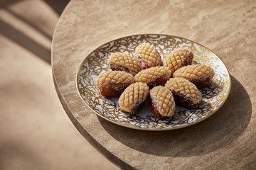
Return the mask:
<svg viewBox="0 0 256 170">
<path fill-rule="evenodd" d="M 151 132 L 133 130 L 110 123 L 100 123 L 116 140 L 127 147 L 162 157 L 192 157 L 225 147 L 247 128 L 252 103 L 242 84 L 231 77 L 230 96 L 222 108 L 210 118 L 187 128 Z"/>
</svg>

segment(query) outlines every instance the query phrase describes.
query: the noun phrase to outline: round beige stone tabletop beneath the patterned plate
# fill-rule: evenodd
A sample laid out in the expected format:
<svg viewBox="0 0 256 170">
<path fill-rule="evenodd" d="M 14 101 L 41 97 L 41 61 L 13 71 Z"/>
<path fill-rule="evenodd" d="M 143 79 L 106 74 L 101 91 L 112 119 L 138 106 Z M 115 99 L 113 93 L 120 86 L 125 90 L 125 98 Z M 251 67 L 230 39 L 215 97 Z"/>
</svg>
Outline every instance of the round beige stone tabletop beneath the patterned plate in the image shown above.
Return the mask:
<svg viewBox="0 0 256 170">
<path fill-rule="evenodd" d="M 82 60 L 105 42 L 145 33 L 194 40 L 223 60 L 232 88 L 217 113 L 187 128 L 149 132 L 110 123 L 85 106 L 75 86 Z M 73 0 L 53 38 L 55 89 L 79 132 L 121 169 L 256 169 L 255 35 L 254 0 Z"/>
</svg>

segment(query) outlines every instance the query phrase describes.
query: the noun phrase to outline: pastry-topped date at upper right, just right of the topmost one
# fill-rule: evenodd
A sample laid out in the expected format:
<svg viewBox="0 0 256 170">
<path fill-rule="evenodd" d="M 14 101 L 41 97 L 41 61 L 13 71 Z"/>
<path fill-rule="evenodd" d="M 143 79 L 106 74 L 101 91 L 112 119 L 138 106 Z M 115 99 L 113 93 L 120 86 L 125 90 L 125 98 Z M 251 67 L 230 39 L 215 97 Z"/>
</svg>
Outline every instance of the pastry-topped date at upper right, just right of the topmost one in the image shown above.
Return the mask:
<svg viewBox="0 0 256 170">
<path fill-rule="evenodd" d="M 166 57 L 164 66 L 169 67 L 171 72 L 174 73 L 177 69 L 191 65 L 193 61 L 193 52 L 186 48 L 177 48 Z"/>
</svg>

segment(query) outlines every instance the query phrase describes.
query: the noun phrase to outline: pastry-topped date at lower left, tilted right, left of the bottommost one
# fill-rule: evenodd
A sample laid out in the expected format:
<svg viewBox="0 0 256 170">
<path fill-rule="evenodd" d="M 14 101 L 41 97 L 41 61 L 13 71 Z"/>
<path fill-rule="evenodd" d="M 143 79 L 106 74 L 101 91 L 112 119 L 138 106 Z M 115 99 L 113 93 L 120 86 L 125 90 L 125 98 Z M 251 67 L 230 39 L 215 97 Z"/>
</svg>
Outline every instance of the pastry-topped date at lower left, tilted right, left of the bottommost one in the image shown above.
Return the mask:
<svg viewBox="0 0 256 170">
<path fill-rule="evenodd" d="M 118 100 L 118 106 L 124 113 L 133 115 L 141 110 L 149 96 L 149 86 L 142 82 L 131 84 Z"/>
</svg>

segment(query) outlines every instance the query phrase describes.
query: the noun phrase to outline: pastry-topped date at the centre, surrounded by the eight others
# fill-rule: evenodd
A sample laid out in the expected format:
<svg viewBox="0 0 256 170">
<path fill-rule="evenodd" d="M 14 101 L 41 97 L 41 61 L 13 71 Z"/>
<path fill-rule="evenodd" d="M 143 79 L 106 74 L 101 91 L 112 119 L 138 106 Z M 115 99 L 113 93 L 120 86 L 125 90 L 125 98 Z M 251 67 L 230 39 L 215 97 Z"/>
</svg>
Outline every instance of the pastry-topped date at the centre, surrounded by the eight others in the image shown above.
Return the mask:
<svg viewBox="0 0 256 170">
<path fill-rule="evenodd" d="M 171 70 L 168 67 L 158 66 L 143 69 L 134 76 L 134 81 L 146 83 L 149 86 L 149 89 L 152 89 L 154 86 L 164 86 L 170 77 Z"/>
</svg>

